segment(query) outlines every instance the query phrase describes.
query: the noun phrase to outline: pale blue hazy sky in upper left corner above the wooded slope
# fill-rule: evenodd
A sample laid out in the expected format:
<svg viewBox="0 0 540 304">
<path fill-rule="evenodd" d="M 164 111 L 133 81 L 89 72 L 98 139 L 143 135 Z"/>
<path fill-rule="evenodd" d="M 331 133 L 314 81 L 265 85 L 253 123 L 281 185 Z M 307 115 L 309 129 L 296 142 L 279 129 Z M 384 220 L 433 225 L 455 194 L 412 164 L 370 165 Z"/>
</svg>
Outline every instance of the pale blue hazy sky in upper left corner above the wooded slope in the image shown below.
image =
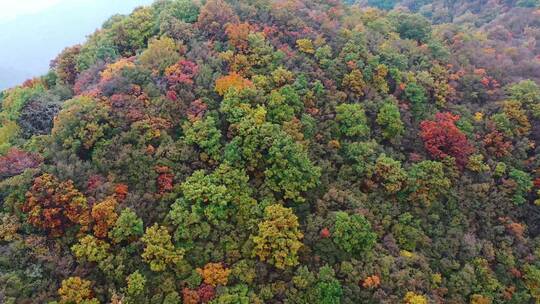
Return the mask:
<svg viewBox="0 0 540 304">
<path fill-rule="evenodd" d="M 153 0 L 0 0 L 0 90 L 45 74 L 65 47 Z"/>
</svg>

